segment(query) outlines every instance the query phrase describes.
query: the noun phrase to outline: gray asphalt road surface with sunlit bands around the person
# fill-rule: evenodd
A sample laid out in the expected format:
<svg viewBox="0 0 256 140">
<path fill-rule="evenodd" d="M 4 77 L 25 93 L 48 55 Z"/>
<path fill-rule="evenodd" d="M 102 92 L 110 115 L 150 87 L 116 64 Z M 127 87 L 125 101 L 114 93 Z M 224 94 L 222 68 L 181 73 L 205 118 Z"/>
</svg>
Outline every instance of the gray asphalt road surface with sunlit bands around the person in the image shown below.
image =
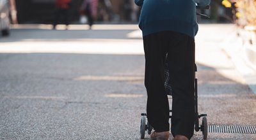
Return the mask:
<svg viewBox="0 0 256 140">
<path fill-rule="evenodd" d="M 255 126 L 256 96 L 223 49 L 233 31 L 230 24 L 200 25 L 199 113 L 209 125 Z M 140 139 L 147 102 L 142 45 L 137 25 L 13 27 L 0 38 L 0 139 Z"/>
</svg>

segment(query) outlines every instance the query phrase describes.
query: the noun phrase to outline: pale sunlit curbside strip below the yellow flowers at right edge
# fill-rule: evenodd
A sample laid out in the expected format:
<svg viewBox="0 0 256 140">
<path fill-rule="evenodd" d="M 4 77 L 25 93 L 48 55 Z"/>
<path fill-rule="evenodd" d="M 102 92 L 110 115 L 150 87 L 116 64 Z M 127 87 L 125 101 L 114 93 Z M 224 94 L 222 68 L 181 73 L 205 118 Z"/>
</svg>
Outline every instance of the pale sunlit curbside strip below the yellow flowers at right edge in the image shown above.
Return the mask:
<svg viewBox="0 0 256 140">
<path fill-rule="evenodd" d="M 237 71 L 243 75 L 246 84 L 256 94 L 256 46 L 250 45 L 248 42 L 243 41 L 243 36 L 246 34 L 239 31 L 234 25 L 234 33 L 223 42 L 223 50 L 232 59 Z M 237 36 L 239 32 L 240 36 Z"/>
</svg>

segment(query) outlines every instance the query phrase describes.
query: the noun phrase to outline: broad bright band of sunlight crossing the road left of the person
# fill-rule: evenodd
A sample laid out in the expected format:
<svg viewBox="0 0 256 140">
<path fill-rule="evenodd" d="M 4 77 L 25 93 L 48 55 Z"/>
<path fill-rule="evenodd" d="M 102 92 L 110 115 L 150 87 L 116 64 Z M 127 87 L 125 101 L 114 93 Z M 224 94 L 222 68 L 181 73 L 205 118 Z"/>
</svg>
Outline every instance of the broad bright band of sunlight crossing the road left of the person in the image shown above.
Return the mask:
<svg viewBox="0 0 256 140">
<path fill-rule="evenodd" d="M 1 43 L 0 53 L 144 54 L 141 41 L 120 39 L 8 42 Z"/>
</svg>

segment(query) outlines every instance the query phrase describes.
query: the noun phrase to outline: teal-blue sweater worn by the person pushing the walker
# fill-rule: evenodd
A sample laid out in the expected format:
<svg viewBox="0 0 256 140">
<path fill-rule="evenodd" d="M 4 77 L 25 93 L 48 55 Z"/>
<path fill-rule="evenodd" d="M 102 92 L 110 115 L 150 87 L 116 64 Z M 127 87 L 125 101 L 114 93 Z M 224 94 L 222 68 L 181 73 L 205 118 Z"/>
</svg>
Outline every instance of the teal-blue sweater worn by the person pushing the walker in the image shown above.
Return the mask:
<svg viewBox="0 0 256 140">
<path fill-rule="evenodd" d="M 211 0 L 134 0 L 141 6 L 139 27 L 143 36 L 159 31 L 176 31 L 195 38 L 198 31 L 196 4 Z"/>
</svg>

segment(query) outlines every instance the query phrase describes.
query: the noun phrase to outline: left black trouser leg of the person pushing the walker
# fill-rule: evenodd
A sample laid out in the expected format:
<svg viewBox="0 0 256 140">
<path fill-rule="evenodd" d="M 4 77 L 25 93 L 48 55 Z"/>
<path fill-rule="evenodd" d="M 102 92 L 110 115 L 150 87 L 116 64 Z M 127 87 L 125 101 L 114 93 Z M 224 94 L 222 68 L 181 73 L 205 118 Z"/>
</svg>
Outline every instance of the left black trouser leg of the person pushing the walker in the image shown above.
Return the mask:
<svg viewBox="0 0 256 140">
<path fill-rule="evenodd" d="M 169 104 L 164 89 L 166 43 L 163 33 L 143 37 L 145 51 L 145 87 L 147 88 L 147 118 L 156 132 L 170 130 Z"/>
</svg>

